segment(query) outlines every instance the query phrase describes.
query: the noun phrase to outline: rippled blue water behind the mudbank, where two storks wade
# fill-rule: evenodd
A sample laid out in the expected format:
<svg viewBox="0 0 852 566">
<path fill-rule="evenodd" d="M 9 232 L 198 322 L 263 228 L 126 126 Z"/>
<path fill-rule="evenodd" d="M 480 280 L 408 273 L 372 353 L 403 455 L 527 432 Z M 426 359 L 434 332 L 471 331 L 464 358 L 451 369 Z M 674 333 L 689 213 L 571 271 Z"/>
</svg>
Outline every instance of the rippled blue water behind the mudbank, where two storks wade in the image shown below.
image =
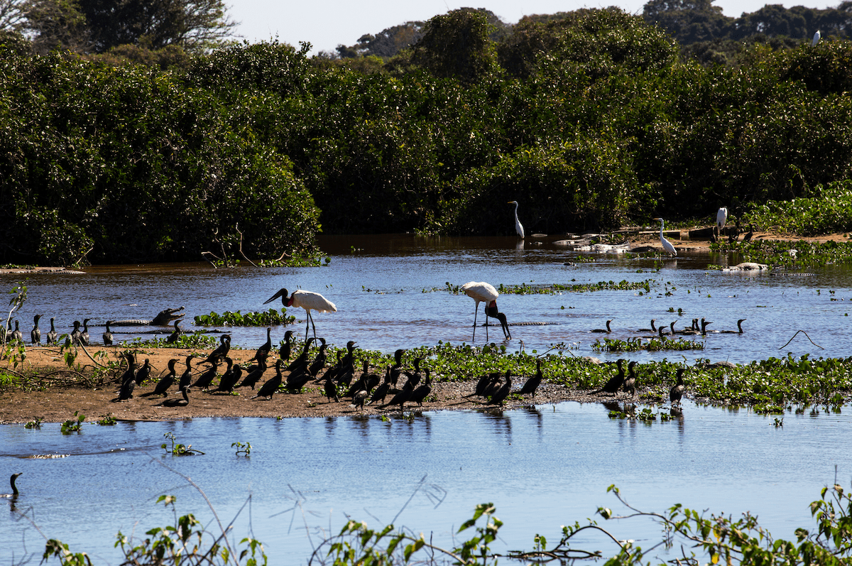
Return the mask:
<svg viewBox="0 0 852 566">
<path fill-rule="evenodd" d="M 676 259 L 625 259 L 576 254 L 545 242 L 518 244 L 513 238 L 421 238 L 409 234 L 331 236 L 321 240 L 331 263 L 321 268 L 211 269 L 205 263 L 145 266 L 101 266 L 84 274 L 38 274 L 27 280 L 30 294 L 18 318 L 25 334 L 32 315 L 41 313 L 43 326 L 55 316 L 60 332 L 72 321 L 90 317 L 150 319 L 165 307 L 185 306 L 187 329 L 194 315 L 210 311 L 268 309 L 263 302 L 280 287 L 321 292 L 337 304 L 337 313 L 314 314 L 317 332 L 332 344 L 354 339 L 360 347 L 386 352 L 438 341 L 471 339 L 474 302 L 446 292 L 446 283 L 485 280 L 494 286 L 583 284 L 598 281 L 652 280 L 651 292 L 585 292 L 558 295 L 504 295 L 498 300 L 512 326 L 509 348 L 546 349 L 564 343 L 577 355 L 597 353 L 592 344 L 613 319 L 608 338 L 642 335 L 649 321 L 676 327 L 693 318 L 711 321 L 705 350 L 687 353 L 688 360 L 751 361 L 774 355 L 845 356 L 852 350 L 847 332 L 852 300 L 852 272 L 826 267 L 813 276 L 726 274 L 709 264 L 737 263 L 736 257 L 683 252 Z M 579 260 L 594 261 L 579 261 Z M 0 275 L 10 288 L 20 275 Z M 833 293 L 832 293 L 833 292 Z M 280 304 L 278 308 L 280 308 Z M 678 309 L 681 309 L 680 314 Z M 305 314 L 293 312 L 296 331 L 304 332 Z M 745 333 L 731 334 L 745 318 Z M 132 327 L 120 329 L 135 332 Z M 491 341 L 502 332 L 489 332 Z M 798 330 L 790 344 L 785 345 Z M 93 336 L 100 336 L 95 329 Z M 163 333 L 170 332 L 164 328 Z M 254 348 L 265 341 L 263 328 L 233 329 L 233 343 Z M 284 328 L 273 329 L 280 340 Z M 648 332 L 644 332 L 648 334 Z M 134 334 L 121 334 L 132 338 Z M 477 342 L 485 333 L 477 332 Z M 671 357 L 671 353 L 635 355 L 636 359 Z"/>
</svg>

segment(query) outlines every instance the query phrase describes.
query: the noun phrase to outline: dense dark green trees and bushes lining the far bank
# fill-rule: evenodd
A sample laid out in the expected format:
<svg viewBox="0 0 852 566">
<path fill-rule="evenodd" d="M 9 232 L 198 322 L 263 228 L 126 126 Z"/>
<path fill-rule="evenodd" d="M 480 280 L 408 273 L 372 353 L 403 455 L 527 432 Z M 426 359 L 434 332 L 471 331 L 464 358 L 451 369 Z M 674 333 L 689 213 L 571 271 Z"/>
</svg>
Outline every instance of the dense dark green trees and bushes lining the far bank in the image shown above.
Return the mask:
<svg viewBox="0 0 852 566">
<path fill-rule="evenodd" d="M 555 234 L 819 196 L 852 167 L 850 18 L 459 9 L 309 56 L 234 41 L 218 0 L 0 0 L 0 261 L 288 261 L 320 229 L 512 234 L 508 200 Z"/>
</svg>

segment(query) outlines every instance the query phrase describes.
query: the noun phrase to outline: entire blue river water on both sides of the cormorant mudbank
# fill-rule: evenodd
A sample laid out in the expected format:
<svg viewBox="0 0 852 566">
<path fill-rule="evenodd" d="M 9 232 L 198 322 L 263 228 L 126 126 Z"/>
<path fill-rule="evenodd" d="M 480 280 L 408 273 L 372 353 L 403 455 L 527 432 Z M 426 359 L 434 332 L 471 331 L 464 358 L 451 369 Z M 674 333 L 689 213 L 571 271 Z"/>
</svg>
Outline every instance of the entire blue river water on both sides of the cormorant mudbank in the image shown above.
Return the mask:
<svg viewBox="0 0 852 566">
<path fill-rule="evenodd" d="M 188 319 L 194 315 L 266 309 L 263 301 L 280 287 L 301 287 L 337 304 L 337 313 L 314 315 L 320 336 L 332 344 L 354 339 L 362 348 L 389 352 L 439 340 L 470 341 L 473 301 L 446 292 L 446 282 L 652 280 L 650 293 L 504 295 L 498 306 L 510 323 L 551 323 L 512 326 L 514 339 L 507 345 L 517 349 L 523 340 L 527 351 L 542 351 L 561 342 L 572 347 L 566 355 L 606 359 L 592 349 L 599 335 L 589 331 L 607 319 L 613 319 L 610 338 L 629 338 L 652 318 L 688 326 L 692 318 L 706 317 L 717 330 L 735 330 L 736 321 L 745 318 L 743 334 L 698 338 L 705 350 L 687 353 L 687 361 L 743 362 L 788 352 L 849 355 L 852 274 L 841 267 L 813 276 L 748 276 L 707 269 L 711 263 L 737 263 L 736 257 L 687 252 L 676 259 L 579 261 L 578 254 L 556 246 L 519 249 L 514 239 L 502 238 L 328 237 L 321 245 L 331 257 L 321 268 L 214 270 L 199 263 L 29 275 L 29 297 L 18 318 L 55 316 L 60 332 L 68 332 L 73 320 L 152 318 L 160 309 L 182 305 L 183 326 L 191 329 Z M 0 275 L 0 287 L 9 289 L 21 278 Z M 303 312 L 295 314 L 303 321 Z M 25 334 L 29 328 L 22 325 Z M 501 332 L 491 330 L 493 341 Z M 785 345 L 798 330 L 809 338 L 799 334 Z M 283 333 L 273 329 L 273 340 Z M 234 328 L 233 337 L 234 344 L 255 348 L 266 332 Z M 477 343 L 482 342 L 484 333 L 477 330 Z M 632 357 L 666 356 L 682 359 L 671 352 Z M 61 435 L 59 425 L 0 426 L 0 471 L 24 472 L 15 512 L 0 514 L 0 564 L 40 556 L 42 534 L 89 552 L 95 563 L 118 563 L 120 554 L 112 548 L 118 530 L 141 535 L 170 520 L 155 503 L 161 494 L 175 494 L 179 513 L 192 511 L 214 528 L 212 512 L 183 476 L 204 490 L 223 522 L 236 517 L 235 539 L 253 533 L 262 540 L 271 563 L 306 563 L 318 540 L 337 534 L 347 517 L 371 527 L 394 522 L 452 546 L 452 532 L 474 505 L 486 501 L 494 502 L 506 523 L 499 548 L 529 549 L 536 533 L 552 544 L 561 524 L 582 523 L 599 505 L 619 511 L 606 493 L 613 483 L 646 511 L 675 503 L 734 517 L 751 511 L 776 538 L 792 539 L 794 528 L 811 525 L 808 504 L 820 488 L 836 480 L 848 486 L 852 479 L 849 450 L 838 449 L 848 445 L 852 430 L 846 413 L 788 414 L 779 428 L 773 418 L 747 410 L 691 403 L 682 419 L 650 425 L 609 419 L 607 411 L 599 404 L 562 403 L 387 421 L 87 424 L 71 436 Z M 165 456 L 160 448 L 165 433 L 204 455 Z M 250 442 L 250 458 L 237 456 L 233 442 Z M 60 457 L 33 458 L 45 455 Z M 240 511 L 249 496 L 250 505 Z M 12 502 L 0 505 L 11 508 Z M 605 526 L 643 547 L 660 539 L 659 527 L 642 520 Z M 611 543 L 593 535 L 579 546 L 614 552 Z M 676 551 L 679 555 L 679 547 Z"/>
</svg>

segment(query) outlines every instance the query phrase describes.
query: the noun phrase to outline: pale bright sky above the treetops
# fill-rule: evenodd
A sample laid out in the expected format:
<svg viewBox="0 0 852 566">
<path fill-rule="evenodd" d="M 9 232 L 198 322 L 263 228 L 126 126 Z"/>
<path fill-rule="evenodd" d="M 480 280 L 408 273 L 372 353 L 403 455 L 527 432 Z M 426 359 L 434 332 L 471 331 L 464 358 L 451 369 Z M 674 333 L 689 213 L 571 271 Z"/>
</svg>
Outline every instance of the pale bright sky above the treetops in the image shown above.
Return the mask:
<svg viewBox="0 0 852 566">
<path fill-rule="evenodd" d="M 583 0 L 469 0 L 452 3 L 449 0 L 377 0 L 376 2 L 353 2 L 353 0 L 299 0 L 298 2 L 279 2 L 276 0 L 233 0 L 228 14 L 239 22 L 237 33 L 256 43 L 278 38 L 280 42 L 298 45 L 308 41 L 313 48 L 312 54 L 320 51 L 334 51 L 337 45 L 353 45 L 366 33 L 375 34 L 406 21 L 429 20 L 446 14 L 448 11 L 463 7 L 490 9 L 506 23 L 514 24 L 529 14 L 555 14 L 570 12 L 580 8 L 606 8 L 616 5 L 626 12 L 642 14 L 642 7 L 648 0 L 619 0 L 613 2 L 584 2 Z M 227 0 L 226 0 L 227 2 Z M 841 0 L 804 0 L 783 2 L 786 8 L 807 6 L 825 9 L 838 6 Z M 761 9 L 766 0 L 717 0 L 714 6 L 722 8 L 729 17 L 738 17 L 743 12 Z"/>
</svg>

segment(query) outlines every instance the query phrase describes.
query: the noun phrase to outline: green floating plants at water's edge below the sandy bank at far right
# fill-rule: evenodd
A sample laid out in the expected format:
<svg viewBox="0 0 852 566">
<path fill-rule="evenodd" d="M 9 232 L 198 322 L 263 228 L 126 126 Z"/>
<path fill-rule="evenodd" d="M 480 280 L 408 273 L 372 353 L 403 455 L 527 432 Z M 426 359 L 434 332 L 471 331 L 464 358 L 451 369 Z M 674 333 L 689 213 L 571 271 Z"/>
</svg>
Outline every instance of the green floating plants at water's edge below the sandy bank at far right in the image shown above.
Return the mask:
<svg viewBox="0 0 852 566">
<path fill-rule="evenodd" d="M 766 263 L 786 269 L 820 267 L 831 263 L 852 263 L 852 241 L 829 241 L 820 244 L 806 240 L 757 240 L 748 244 L 714 242 L 710 247 L 714 251 L 740 253 L 746 262 Z"/>
</svg>

